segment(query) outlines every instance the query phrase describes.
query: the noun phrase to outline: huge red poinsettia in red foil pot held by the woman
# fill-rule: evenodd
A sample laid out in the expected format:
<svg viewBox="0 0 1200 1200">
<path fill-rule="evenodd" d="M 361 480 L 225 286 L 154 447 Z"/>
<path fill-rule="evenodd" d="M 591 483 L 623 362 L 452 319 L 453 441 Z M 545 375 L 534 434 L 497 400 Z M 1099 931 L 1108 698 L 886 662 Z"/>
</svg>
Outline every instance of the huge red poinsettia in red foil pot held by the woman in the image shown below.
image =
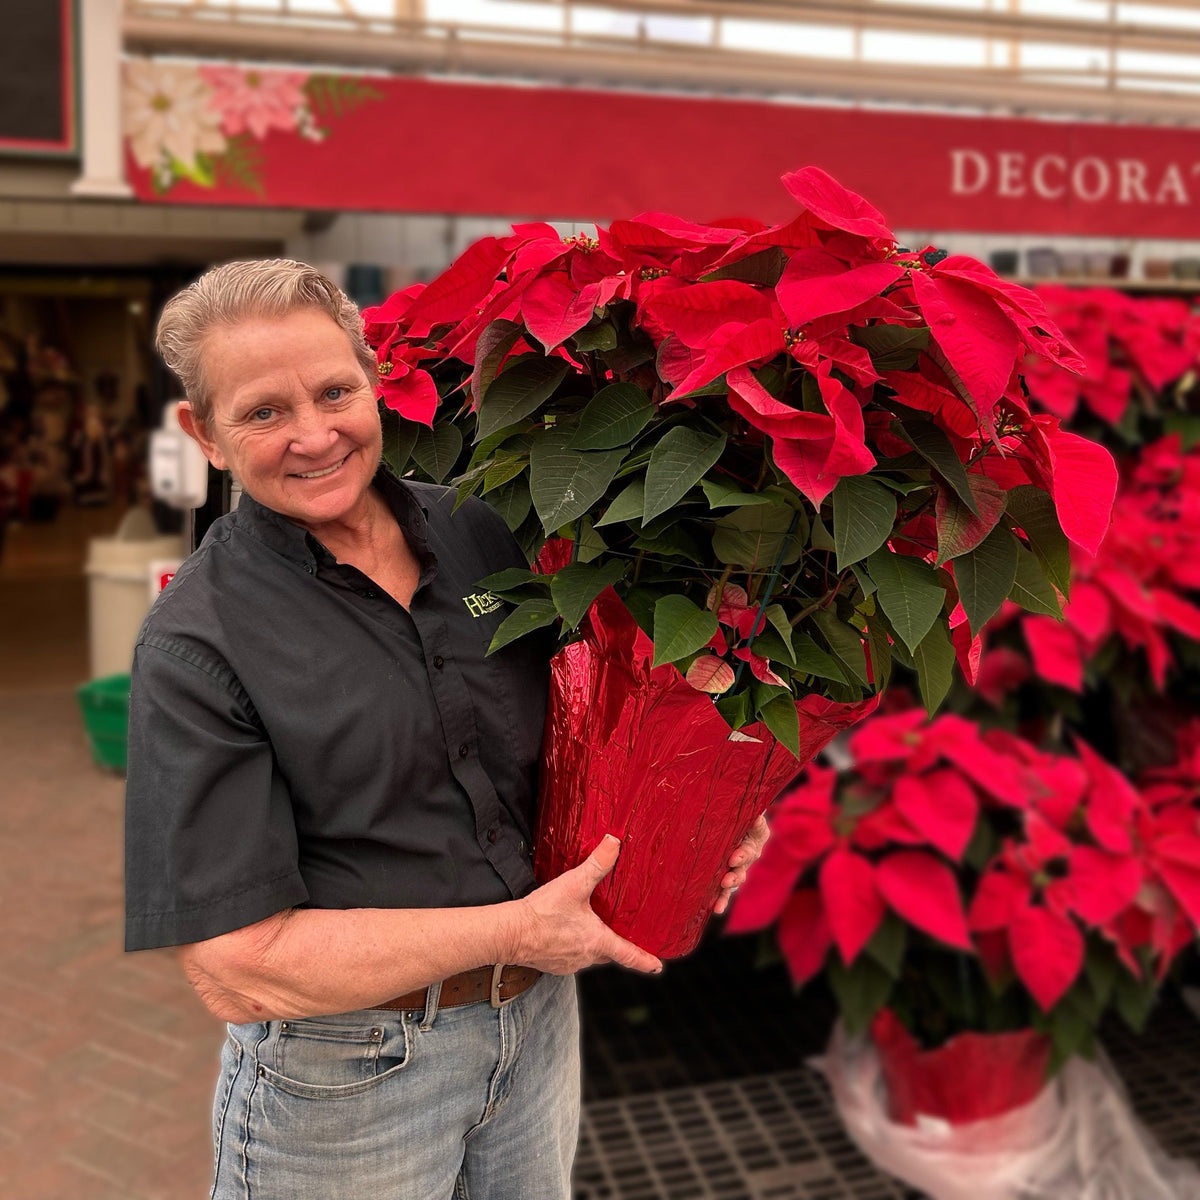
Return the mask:
<svg viewBox="0 0 1200 1200">
<path fill-rule="evenodd" d="M 624 839 L 598 907 L 700 936 L 724 858 L 893 661 L 930 709 L 1009 596 L 1109 522 L 1109 455 L 1031 414 L 1079 360 L 1032 293 L 907 251 L 815 168 L 779 226 L 517 226 L 368 310 L 400 470 L 482 497 L 529 570 L 493 650 L 558 629 L 536 865 Z"/>
</svg>

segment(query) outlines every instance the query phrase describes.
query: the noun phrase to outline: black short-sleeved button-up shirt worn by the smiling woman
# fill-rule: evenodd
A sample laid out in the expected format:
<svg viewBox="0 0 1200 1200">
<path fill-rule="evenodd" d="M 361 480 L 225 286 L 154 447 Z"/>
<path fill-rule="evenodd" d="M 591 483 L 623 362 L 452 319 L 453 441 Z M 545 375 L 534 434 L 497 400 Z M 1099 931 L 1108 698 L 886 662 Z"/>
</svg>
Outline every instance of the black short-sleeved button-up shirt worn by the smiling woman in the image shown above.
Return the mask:
<svg viewBox="0 0 1200 1200">
<path fill-rule="evenodd" d="M 524 559 L 480 500 L 374 486 L 421 564 L 406 612 L 248 496 L 138 637 L 126 947 L 282 908 L 446 907 L 534 886 L 546 638 L 486 655 L 510 611 L 479 581 Z"/>
</svg>

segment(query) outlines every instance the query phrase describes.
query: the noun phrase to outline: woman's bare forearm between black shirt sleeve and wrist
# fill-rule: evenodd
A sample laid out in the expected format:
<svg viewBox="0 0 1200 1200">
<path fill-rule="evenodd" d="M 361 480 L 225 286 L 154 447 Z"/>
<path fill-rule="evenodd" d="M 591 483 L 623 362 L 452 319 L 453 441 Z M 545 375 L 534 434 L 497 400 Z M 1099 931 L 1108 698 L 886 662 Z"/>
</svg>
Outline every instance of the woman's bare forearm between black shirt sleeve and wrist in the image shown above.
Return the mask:
<svg viewBox="0 0 1200 1200">
<path fill-rule="evenodd" d="M 514 910 L 295 908 L 184 947 L 184 970 L 224 1021 L 344 1013 L 506 961 Z"/>
</svg>

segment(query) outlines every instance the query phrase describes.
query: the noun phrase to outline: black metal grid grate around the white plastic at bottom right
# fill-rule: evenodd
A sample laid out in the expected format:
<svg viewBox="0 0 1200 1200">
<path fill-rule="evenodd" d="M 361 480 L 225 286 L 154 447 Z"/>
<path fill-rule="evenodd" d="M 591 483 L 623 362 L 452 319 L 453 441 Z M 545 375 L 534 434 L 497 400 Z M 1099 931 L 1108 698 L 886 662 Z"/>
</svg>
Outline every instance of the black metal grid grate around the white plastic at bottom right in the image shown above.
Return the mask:
<svg viewBox="0 0 1200 1200">
<path fill-rule="evenodd" d="M 1171 1156 L 1200 1162 L 1200 1020 L 1165 997 L 1141 1037 L 1105 1048 L 1141 1120 Z M 920 1200 L 842 1132 L 808 1067 L 584 1104 L 576 1200 Z"/>
</svg>

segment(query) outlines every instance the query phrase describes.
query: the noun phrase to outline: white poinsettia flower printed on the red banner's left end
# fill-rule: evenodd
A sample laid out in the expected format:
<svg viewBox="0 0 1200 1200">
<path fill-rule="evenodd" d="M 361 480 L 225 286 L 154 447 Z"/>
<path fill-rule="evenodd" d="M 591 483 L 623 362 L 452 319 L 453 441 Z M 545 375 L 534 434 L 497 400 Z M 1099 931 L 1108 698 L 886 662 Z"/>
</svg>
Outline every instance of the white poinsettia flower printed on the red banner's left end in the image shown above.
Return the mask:
<svg viewBox="0 0 1200 1200">
<path fill-rule="evenodd" d="M 211 90 L 192 66 L 131 59 L 125 64 L 125 133 L 139 167 L 160 168 L 164 157 L 184 172 L 200 154 L 226 149 Z"/>
</svg>

